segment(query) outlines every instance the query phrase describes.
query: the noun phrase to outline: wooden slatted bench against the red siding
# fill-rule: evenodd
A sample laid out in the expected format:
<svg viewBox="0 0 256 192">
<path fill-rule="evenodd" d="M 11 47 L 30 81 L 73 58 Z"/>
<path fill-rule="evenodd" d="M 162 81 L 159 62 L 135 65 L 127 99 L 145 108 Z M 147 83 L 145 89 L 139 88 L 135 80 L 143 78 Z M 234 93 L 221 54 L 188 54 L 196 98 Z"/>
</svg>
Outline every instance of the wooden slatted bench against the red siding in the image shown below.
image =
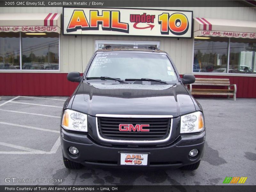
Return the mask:
<svg viewBox="0 0 256 192">
<path fill-rule="evenodd" d="M 192 89 L 192 84 L 189 84 L 189 92 L 192 95 L 233 95 L 234 101 L 236 100 L 236 84 L 230 84 L 229 79 L 218 79 L 218 78 L 196 78 L 193 85 L 200 86 L 227 86 L 228 89 Z M 233 86 L 233 89 L 230 87 Z"/>
</svg>

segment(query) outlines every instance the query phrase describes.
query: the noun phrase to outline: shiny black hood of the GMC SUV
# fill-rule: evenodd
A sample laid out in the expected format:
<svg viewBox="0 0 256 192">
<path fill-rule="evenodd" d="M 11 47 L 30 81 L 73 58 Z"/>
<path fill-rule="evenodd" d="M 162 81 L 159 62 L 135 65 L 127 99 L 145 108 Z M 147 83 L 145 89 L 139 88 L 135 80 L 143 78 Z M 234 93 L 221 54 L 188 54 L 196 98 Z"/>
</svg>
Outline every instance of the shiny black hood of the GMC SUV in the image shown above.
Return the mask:
<svg viewBox="0 0 256 192">
<path fill-rule="evenodd" d="M 172 115 L 195 111 L 195 105 L 182 84 L 80 84 L 72 109 L 91 116 Z"/>
</svg>

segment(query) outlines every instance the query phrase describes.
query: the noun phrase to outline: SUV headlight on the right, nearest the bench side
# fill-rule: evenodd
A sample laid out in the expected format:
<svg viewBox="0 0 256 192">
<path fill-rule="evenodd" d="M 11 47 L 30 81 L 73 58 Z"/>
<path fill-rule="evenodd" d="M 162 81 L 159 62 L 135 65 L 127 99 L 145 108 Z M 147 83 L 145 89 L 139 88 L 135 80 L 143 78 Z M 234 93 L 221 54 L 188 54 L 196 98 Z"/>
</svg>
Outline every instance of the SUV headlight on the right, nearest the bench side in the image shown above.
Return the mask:
<svg viewBox="0 0 256 192">
<path fill-rule="evenodd" d="M 204 130 L 203 113 L 197 111 L 180 117 L 180 133 L 195 133 Z"/>
</svg>

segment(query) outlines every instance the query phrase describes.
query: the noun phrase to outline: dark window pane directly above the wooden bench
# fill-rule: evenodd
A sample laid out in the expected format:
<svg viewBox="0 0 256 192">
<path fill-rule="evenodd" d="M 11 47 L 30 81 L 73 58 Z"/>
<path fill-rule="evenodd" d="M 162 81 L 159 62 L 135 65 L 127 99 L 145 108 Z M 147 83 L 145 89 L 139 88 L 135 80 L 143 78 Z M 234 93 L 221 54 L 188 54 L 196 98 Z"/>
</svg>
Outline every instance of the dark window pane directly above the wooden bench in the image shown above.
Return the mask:
<svg viewBox="0 0 256 192">
<path fill-rule="evenodd" d="M 228 38 L 195 39 L 193 72 L 226 73 Z"/>
</svg>

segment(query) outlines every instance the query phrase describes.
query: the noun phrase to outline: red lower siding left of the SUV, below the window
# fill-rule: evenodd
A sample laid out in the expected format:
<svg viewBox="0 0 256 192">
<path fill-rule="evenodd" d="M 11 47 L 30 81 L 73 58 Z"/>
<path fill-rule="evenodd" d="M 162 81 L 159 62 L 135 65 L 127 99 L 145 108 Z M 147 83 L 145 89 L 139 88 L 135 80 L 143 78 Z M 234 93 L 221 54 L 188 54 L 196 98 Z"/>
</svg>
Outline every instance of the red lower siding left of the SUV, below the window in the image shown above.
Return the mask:
<svg viewBox="0 0 256 192">
<path fill-rule="evenodd" d="M 67 73 L 0 73 L 0 95 L 69 96 L 77 85 Z"/>
</svg>

